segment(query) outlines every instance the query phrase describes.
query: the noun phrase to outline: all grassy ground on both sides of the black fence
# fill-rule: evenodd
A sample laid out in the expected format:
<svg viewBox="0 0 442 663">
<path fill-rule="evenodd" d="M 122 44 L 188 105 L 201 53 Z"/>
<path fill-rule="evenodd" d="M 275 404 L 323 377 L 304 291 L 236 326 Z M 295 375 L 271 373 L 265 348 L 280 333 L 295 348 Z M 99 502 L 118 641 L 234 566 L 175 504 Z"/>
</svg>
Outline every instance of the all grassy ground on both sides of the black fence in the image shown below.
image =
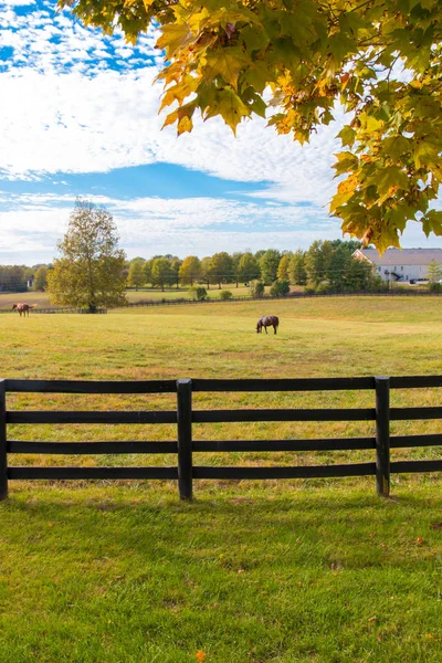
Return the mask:
<svg viewBox="0 0 442 663">
<path fill-rule="evenodd" d="M 255 333 L 261 315 L 278 334 Z M 282 378 L 436 375 L 442 299 L 348 297 L 0 317 L 1 377 Z M 435 389 L 393 406 L 438 406 Z M 23 409 L 168 409 L 170 394 L 13 394 Z M 222 400 L 221 400 L 222 399 Z M 201 393 L 203 408 L 372 407 L 365 392 Z M 371 422 L 196 424 L 194 439 L 372 434 Z M 272 427 L 272 431 L 269 430 Z M 392 433 L 440 432 L 438 421 Z M 15 425 L 19 440 L 172 440 L 175 427 Z M 204 464 L 319 464 L 372 452 L 201 454 Z M 225 457 L 228 456 L 228 457 Z M 436 459 L 440 448 L 392 450 Z M 21 456 L 17 464 L 169 464 L 167 455 Z M 440 661 L 442 477 L 10 483 L 0 504 L 7 663 Z M 206 657 L 203 659 L 203 654 Z M 198 657 L 197 657 L 198 655 Z"/>
</svg>

